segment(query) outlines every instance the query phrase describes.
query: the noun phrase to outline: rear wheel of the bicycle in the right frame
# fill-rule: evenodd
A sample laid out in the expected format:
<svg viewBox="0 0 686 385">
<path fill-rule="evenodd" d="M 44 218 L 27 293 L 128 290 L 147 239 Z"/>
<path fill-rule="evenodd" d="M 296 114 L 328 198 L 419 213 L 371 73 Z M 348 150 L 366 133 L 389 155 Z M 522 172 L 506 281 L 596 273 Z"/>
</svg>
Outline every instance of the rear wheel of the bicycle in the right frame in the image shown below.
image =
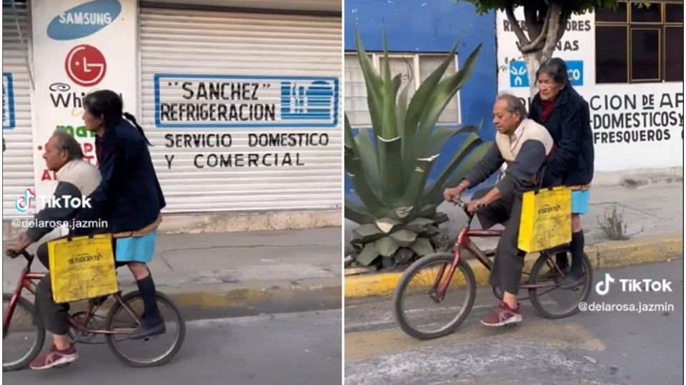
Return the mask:
<svg viewBox="0 0 686 385">
<path fill-rule="evenodd" d="M 567 265 L 572 265 L 572 252 L 557 252 L 557 258 L 567 256 Z M 542 252 L 532 267 L 529 284 L 540 287 L 529 289 L 532 306 L 541 317 L 559 319 L 570 317 L 579 312 L 579 304 L 585 302 L 593 286 L 593 268 L 586 253 L 583 255 L 584 282 L 573 289 L 561 289 L 558 283 L 567 272 L 555 269 L 556 260 L 547 252 Z M 564 264 L 563 264 L 564 265 Z M 559 266 L 559 265 L 558 265 Z"/>
</svg>

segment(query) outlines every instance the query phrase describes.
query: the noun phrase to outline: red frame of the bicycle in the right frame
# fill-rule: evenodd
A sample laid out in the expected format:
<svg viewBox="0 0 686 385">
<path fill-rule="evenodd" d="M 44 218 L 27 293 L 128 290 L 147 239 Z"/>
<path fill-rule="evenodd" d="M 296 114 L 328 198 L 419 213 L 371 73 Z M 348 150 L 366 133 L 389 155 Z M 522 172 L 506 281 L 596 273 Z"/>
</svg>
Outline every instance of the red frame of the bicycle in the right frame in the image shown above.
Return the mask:
<svg viewBox="0 0 686 385">
<path fill-rule="evenodd" d="M 448 290 L 448 286 L 450 282 L 452 281 L 452 277 L 455 273 L 455 270 L 457 269 L 457 265 L 459 265 L 459 260 L 461 257 L 461 250 L 464 248 L 467 251 L 471 252 L 474 257 L 481 262 L 484 267 L 486 267 L 488 270 L 492 270 L 493 268 L 493 262 L 489 260 L 489 258 L 486 256 L 486 254 L 479 249 L 477 245 L 472 242 L 470 237 L 479 237 L 479 238 L 485 238 L 485 237 L 500 237 L 502 235 L 502 230 L 472 230 L 472 220 L 474 220 L 474 215 L 469 214 L 467 212 L 467 204 L 464 202 L 455 202 L 459 207 L 462 207 L 464 212 L 467 213 L 467 224 L 462 226 L 462 229 L 459 231 L 459 234 L 457 235 L 457 241 L 455 242 L 455 245 L 453 246 L 453 252 L 454 252 L 454 259 L 452 261 L 452 264 L 449 267 L 448 274 L 447 274 L 447 279 L 443 281 L 443 284 L 441 287 L 438 289 L 438 285 L 441 283 L 443 273 L 445 271 L 445 266 L 442 266 L 437 274 L 436 277 L 436 282 L 434 282 L 434 287 L 432 289 L 432 297 L 436 299 L 437 301 L 442 301 L 442 299 L 445 297 L 445 293 Z M 550 252 L 543 252 L 545 255 L 547 255 L 547 260 L 546 263 L 548 267 L 551 270 L 556 270 L 558 273 L 562 274 L 560 271 L 560 268 L 557 266 L 557 263 L 552 261 L 552 258 L 550 255 L 554 252 L 553 250 L 550 250 Z M 564 274 L 562 274 L 564 276 Z M 521 289 L 544 289 L 547 287 L 556 287 L 557 283 L 555 282 L 550 282 L 550 283 L 541 283 L 541 284 L 520 284 Z M 438 290 L 437 290 L 438 289 Z"/>
</svg>

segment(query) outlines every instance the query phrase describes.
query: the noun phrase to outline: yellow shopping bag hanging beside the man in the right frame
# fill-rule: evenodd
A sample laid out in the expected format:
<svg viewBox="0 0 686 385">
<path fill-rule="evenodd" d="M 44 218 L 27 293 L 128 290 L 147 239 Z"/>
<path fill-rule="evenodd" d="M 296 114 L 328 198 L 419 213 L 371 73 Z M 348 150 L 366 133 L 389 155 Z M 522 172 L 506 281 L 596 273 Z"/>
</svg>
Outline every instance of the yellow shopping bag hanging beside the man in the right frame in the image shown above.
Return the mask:
<svg viewBox="0 0 686 385">
<path fill-rule="evenodd" d="M 572 190 L 529 191 L 522 197 L 517 245 L 525 252 L 552 249 L 572 241 Z"/>
</svg>

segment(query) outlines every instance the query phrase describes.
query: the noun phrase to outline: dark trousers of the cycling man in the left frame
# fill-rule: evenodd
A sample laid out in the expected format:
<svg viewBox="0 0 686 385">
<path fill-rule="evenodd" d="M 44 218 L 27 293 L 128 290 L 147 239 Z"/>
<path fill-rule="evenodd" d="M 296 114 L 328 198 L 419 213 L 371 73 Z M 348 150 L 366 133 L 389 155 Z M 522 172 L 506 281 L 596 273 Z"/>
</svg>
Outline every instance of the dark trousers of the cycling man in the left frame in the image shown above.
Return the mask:
<svg viewBox="0 0 686 385">
<path fill-rule="evenodd" d="M 58 239 L 64 239 L 60 237 Z M 114 244 L 112 245 L 114 251 Z M 47 242 L 41 243 L 36 250 L 36 256 L 41 263 L 50 270 Z M 116 267 L 124 266 L 126 263 L 115 262 Z M 56 304 L 52 297 L 52 286 L 50 274 L 46 274 L 36 287 L 36 314 L 34 322 L 37 326 L 43 327 L 52 334 L 64 335 L 69 329 L 69 304 Z"/>
</svg>

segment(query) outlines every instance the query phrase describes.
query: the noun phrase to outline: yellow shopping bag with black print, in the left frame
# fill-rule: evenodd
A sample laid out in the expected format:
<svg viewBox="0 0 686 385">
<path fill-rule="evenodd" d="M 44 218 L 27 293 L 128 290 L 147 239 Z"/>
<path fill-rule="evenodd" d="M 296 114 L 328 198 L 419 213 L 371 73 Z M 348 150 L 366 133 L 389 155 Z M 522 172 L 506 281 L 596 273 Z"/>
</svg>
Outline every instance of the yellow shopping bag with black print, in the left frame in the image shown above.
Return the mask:
<svg viewBox="0 0 686 385">
<path fill-rule="evenodd" d="M 48 242 L 48 255 L 52 297 L 58 304 L 119 290 L 109 234 Z"/>
</svg>

